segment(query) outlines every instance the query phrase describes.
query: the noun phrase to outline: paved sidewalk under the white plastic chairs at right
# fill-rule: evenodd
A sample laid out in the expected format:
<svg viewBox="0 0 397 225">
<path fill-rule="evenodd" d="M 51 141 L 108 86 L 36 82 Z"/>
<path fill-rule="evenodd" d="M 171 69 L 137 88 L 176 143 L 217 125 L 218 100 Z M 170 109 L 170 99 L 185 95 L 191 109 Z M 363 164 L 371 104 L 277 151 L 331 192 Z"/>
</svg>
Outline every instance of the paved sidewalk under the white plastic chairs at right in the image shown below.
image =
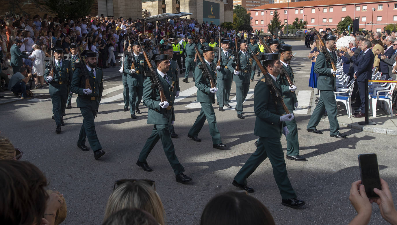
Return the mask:
<svg viewBox="0 0 397 225">
<path fill-rule="evenodd" d="M 315 95 L 315 93 L 317 93 L 317 89 L 314 90 L 310 114 L 312 114 L 314 107 L 316 107 L 314 100 L 316 99 L 316 97 L 318 97 L 318 95 Z M 397 116 L 395 116 L 397 112 L 395 107 L 393 108 L 393 116 L 391 117 L 390 114 L 388 114 L 387 111 L 381 107 L 381 103 L 378 102 L 377 110 L 376 110 L 376 118 L 372 117 L 372 110 L 370 110 L 370 114 L 369 114 L 369 121 L 376 122 L 376 124 L 363 126 L 358 124 L 358 122 L 365 121 L 365 117 L 354 118 L 352 115 L 349 118 L 347 116 L 345 105 L 341 102 L 337 102 L 337 104 L 338 104 L 337 119 L 340 127 L 350 127 L 353 129 L 372 132 L 372 133 L 397 135 Z M 384 105 L 385 107 L 387 106 L 386 104 Z M 322 120 L 328 122 L 328 117 L 323 117 Z"/>
</svg>

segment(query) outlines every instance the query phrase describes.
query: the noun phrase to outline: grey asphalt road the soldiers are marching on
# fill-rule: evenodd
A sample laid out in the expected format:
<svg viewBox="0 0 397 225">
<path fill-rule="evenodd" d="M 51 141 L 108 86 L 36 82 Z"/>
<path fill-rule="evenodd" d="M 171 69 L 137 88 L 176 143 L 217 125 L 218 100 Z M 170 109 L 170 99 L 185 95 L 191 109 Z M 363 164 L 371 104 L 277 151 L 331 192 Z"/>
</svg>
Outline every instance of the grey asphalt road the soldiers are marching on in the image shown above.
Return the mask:
<svg viewBox="0 0 397 225">
<path fill-rule="evenodd" d="M 296 53 L 291 66 L 295 74 L 300 75 L 295 78 L 298 90 L 312 92 L 307 87 L 311 66 L 306 57 L 308 49 L 302 47 L 303 42 L 286 43 L 292 44 Z M 258 77 L 251 82 L 250 88 L 254 88 L 257 80 Z M 114 91 L 102 99 L 122 93 L 122 89 L 118 88 L 121 79 L 105 84 L 105 90 Z M 193 86 L 191 77 L 189 83 L 181 82 L 182 91 Z M 231 92 L 233 98 L 234 83 Z M 47 98 L 49 95 L 42 96 L 42 99 Z M 22 149 L 23 160 L 34 163 L 44 172 L 49 189 L 64 194 L 68 209 L 65 225 L 101 224 L 114 181 L 122 178 L 156 181 L 156 191 L 164 204 L 168 224 L 199 224 L 202 210 L 212 196 L 236 190 L 231 185 L 233 177 L 255 151 L 254 96 L 244 103 L 246 118 L 243 120 L 237 118 L 234 110 L 220 112 L 214 105 L 222 141 L 228 147 L 226 150 L 212 148 L 208 124 L 198 135 L 202 142 L 194 142 L 187 137 L 200 109 L 191 104 L 196 100 L 195 93 L 180 98 L 183 99 L 175 105 L 175 132 L 179 137 L 173 139 L 173 143 L 185 167 L 185 174 L 193 178 L 186 185 L 175 182 L 161 143 L 148 157 L 153 172 L 144 172 L 135 165 L 153 126 L 146 124 L 146 107 L 141 107 L 142 114 L 132 120 L 129 112 L 123 112 L 123 106 L 118 105 L 123 101 L 117 97 L 100 105 L 95 120 L 96 132 L 106 151 L 100 160 L 94 160 L 92 151 L 83 152 L 76 146 L 83 118 L 75 103 L 72 109 L 66 111 L 66 126 L 62 127 L 61 134 L 55 133 L 49 100 L 23 100 L 2 105 L 0 131 L 1 135 L 12 140 L 15 147 Z M 324 134 L 306 132 L 310 109 L 296 117 L 301 155 L 308 161 L 286 160 L 286 164 L 291 183 L 306 205 L 299 209 L 281 206 L 281 196 L 269 160 L 265 160 L 248 178 L 249 186 L 255 189 L 251 195 L 268 207 L 276 224 L 347 224 L 353 219 L 356 212 L 349 202 L 349 189 L 353 181 L 360 179 L 357 155 L 361 153 L 378 154 L 380 176 L 389 183 L 397 199 L 395 137 L 342 128 L 341 133 L 348 134 L 348 137 L 336 139 L 329 136 L 329 124 L 324 121 L 317 127 Z M 281 138 L 281 143 L 285 151 L 285 137 Z M 387 224 L 375 204 L 370 224 Z"/>
</svg>

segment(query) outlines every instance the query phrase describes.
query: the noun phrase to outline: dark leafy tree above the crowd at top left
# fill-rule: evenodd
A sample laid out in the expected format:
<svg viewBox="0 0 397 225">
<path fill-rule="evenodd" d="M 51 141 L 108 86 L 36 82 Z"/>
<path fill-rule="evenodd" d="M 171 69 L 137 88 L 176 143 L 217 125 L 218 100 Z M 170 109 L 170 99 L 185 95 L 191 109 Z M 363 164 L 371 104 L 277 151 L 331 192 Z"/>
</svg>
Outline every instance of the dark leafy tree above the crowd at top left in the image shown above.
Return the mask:
<svg viewBox="0 0 397 225">
<path fill-rule="evenodd" d="M 93 3 L 94 0 L 43 0 L 41 4 L 63 20 L 85 17 Z"/>
</svg>

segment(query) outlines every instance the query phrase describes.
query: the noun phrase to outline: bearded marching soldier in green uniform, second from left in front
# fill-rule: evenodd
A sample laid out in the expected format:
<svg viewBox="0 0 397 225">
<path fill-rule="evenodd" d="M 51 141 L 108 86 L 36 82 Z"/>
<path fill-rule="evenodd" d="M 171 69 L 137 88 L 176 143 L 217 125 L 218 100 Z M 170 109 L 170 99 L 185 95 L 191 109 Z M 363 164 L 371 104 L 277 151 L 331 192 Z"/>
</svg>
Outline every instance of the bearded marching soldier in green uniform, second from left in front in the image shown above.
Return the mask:
<svg viewBox="0 0 397 225">
<path fill-rule="evenodd" d="M 98 107 L 103 92 L 103 71 L 96 67 L 96 53 L 93 51 L 83 51 L 81 55 L 85 57 L 84 62 L 76 64 L 76 70 L 73 72 L 73 80 L 71 82 L 71 91 L 76 93 L 77 107 L 80 108 L 83 116 L 83 124 L 81 125 L 77 147 L 83 151 L 89 149 L 85 145 L 87 137 L 91 149 L 94 151 L 94 158 L 97 160 L 105 154 L 100 145 L 98 136 L 95 131 L 95 115 L 98 113 Z M 86 88 L 86 76 L 89 77 L 91 89 Z"/>
</svg>

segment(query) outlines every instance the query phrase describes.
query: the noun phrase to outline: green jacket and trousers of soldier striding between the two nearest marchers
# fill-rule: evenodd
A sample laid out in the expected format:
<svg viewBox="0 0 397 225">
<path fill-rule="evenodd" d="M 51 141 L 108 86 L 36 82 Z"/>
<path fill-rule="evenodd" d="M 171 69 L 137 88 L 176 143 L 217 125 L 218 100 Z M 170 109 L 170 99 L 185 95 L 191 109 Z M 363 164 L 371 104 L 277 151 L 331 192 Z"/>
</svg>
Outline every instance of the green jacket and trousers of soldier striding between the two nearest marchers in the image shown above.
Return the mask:
<svg viewBox="0 0 397 225">
<path fill-rule="evenodd" d="M 206 63 L 205 60 L 204 63 Z M 201 65 L 201 62 L 199 62 L 198 65 Z M 210 134 L 212 137 L 212 143 L 214 145 L 220 144 L 222 143 L 222 139 L 220 137 L 218 127 L 216 126 L 215 112 L 214 108 L 212 107 L 212 104 L 215 103 L 215 94 L 210 92 L 211 83 L 208 78 L 204 78 L 202 70 L 199 68 L 198 65 L 195 70 L 195 85 L 197 87 L 197 101 L 201 104 L 201 111 L 200 114 L 198 114 L 197 116 L 196 122 L 190 128 L 188 134 L 193 137 L 197 137 L 202 126 L 204 125 L 205 120 L 207 120 L 210 128 Z M 212 79 L 216 83 L 217 72 L 215 69 L 215 63 L 211 62 L 211 65 L 208 65 L 208 63 L 206 63 L 206 67 L 210 72 L 210 76 L 212 76 Z"/>
</svg>

